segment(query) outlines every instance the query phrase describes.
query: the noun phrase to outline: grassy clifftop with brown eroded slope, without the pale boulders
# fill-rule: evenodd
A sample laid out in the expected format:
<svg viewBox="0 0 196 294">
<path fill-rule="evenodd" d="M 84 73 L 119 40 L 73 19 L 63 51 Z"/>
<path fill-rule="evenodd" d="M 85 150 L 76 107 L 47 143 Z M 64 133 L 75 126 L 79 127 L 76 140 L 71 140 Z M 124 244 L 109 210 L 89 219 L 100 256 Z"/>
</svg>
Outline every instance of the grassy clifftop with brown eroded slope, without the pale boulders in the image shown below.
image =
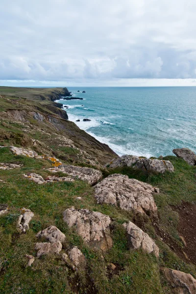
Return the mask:
<svg viewBox="0 0 196 294">
<path fill-rule="evenodd" d="M 162 267 L 191 273 L 196 278 L 196 257 L 191 247 L 194 246 L 191 242 L 195 217 L 189 213 L 195 213 L 196 208 L 196 167 L 169 156 L 164 159 L 172 162 L 173 173 L 147 174 L 127 167 L 105 170 L 102 166 L 117 156 L 108 146 L 62 119 L 56 113 L 60 108 L 50 98 L 19 97 L 9 89 L 3 89 L 4 92 L 0 89 L 0 146 L 7 146 L 0 148 L 0 163 L 17 164 L 20 168 L 0 169 L 0 204 L 9 207 L 9 211 L 0 216 L 0 293 L 177 294 L 178 289 L 168 283 Z M 56 107 L 55 111 L 48 106 Z M 147 182 L 160 189 L 160 193 L 154 195 L 158 216 L 151 218 L 113 205 L 100 205 L 94 197 L 94 187 L 79 179 L 38 185 L 24 174 L 35 172 L 46 179 L 51 175 L 47 169 L 52 167 L 52 162 L 16 156 L 10 145 L 55 156 L 64 164 L 96 168 L 103 177 L 122 173 Z M 113 246 L 110 250 L 102 252 L 89 247 L 63 221 L 63 211 L 72 206 L 111 218 Z M 23 207 L 34 213 L 25 234 L 17 228 Z M 182 212 L 188 218 L 186 222 Z M 129 250 L 122 225 L 127 221 L 133 221 L 153 238 L 160 249 L 159 259 L 142 249 Z M 62 250 L 73 246 L 81 250 L 86 259 L 85 268 L 73 270 L 60 255 L 36 257 L 36 233 L 50 225 L 57 226 L 66 236 Z M 186 245 L 181 238 L 185 237 L 184 231 L 193 235 L 190 240 L 187 236 Z M 26 254 L 35 257 L 31 267 L 27 267 Z"/>
</svg>

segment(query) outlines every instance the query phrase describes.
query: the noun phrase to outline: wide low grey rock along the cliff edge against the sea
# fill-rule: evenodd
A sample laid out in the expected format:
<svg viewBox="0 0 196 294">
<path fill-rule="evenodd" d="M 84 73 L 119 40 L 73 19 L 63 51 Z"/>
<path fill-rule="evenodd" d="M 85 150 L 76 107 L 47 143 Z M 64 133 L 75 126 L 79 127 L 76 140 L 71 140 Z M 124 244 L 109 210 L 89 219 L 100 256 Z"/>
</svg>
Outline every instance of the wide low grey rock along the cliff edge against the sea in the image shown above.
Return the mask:
<svg viewBox="0 0 196 294">
<path fill-rule="evenodd" d="M 134 170 L 139 169 L 155 173 L 173 172 L 173 165 L 169 160 L 140 158 L 134 155 L 123 155 L 106 165 L 106 167 L 108 166 L 109 168 L 126 166 L 131 167 Z"/>
</svg>

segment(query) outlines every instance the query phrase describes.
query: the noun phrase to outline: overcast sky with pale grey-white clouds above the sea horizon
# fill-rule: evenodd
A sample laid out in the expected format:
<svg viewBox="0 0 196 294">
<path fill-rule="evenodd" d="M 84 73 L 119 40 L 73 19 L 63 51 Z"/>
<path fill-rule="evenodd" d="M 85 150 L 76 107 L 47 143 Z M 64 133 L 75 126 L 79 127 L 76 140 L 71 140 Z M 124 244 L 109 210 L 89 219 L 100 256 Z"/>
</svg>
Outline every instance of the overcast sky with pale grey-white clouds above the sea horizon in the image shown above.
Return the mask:
<svg viewBox="0 0 196 294">
<path fill-rule="evenodd" d="M 0 0 L 0 84 L 196 85 L 196 0 Z"/>
</svg>

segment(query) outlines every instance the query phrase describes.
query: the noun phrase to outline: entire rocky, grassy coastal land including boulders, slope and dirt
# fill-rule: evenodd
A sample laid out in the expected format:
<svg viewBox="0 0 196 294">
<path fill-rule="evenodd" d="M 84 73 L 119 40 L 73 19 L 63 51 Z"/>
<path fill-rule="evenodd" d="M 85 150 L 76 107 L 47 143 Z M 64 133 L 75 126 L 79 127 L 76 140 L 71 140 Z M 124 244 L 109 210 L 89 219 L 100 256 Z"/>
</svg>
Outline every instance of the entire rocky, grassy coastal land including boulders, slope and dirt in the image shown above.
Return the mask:
<svg viewBox="0 0 196 294">
<path fill-rule="evenodd" d="M 195 294 L 196 155 L 119 158 L 62 90 L 0 90 L 0 293 Z"/>
</svg>

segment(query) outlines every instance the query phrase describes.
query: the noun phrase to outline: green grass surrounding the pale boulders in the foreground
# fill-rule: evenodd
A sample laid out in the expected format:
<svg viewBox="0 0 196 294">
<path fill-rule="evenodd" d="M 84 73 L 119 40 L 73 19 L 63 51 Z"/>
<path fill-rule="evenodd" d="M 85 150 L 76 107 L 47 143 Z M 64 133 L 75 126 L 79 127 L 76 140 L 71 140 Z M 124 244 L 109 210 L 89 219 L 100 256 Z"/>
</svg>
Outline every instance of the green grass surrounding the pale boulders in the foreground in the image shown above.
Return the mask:
<svg viewBox="0 0 196 294">
<path fill-rule="evenodd" d="M 28 146 L 28 140 L 23 137 L 20 124 L 5 122 L 2 124 L 1 130 L 17 134 L 18 141 L 15 137 L 11 137 L 1 139 L 1 144 L 6 145 L 14 140 L 19 146 L 22 143 Z M 46 126 L 42 125 L 42 127 Z M 47 141 L 45 138 L 47 135 L 41 137 L 39 132 L 27 135 L 37 136 L 45 143 Z M 55 140 L 51 141 L 54 146 L 50 145 L 50 147 L 56 149 Z M 70 160 L 71 155 L 68 153 L 74 151 L 60 149 L 59 154 L 66 152 Z M 98 205 L 93 196 L 93 188 L 79 180 L 74 183 L 37 185 L 24 178 L 23 174 L 37 172 L 45 177 L 49 172 L 44 171 L 43 168 L 50 167 L 51 163 L 47 160 L 14 156 L 8 147 L 0 148 L 0 162 L 24 165 L 17 170 L 0 170 L 0 179 L 5 182 L 0 183 L 0 203 L 6 203 L 10 208 L 8 214 L 0 217 L 0 293 L 171 294 L 172 288 L 162 276 L 161 267 L 182 270 L 196 277 L 196 267 L 177 257 L 169 248 L 170 244 L 167 245 L 158 237 L 162 229 L 168 236 L 169 242 L 183 246 L 177 233 L 178 218 L 173 206 L 179 204 L 181 200 L 196 203 L 196 168 L 172 156 L 165 159 L 172 161 L 174 173 L 147 176 L 130 168 L 103 171 L 104 176 L 120 172 L 160 188 L 160 194 L 155 195 L 159 220 L 150 220 L 149 217 L 136 217 L 131 212 L 125 212 L 111 205 Z M 82 200 L 77 200 L 77 196 L 81 196 Z M 99 211 L 112 218 L 113 247 L 108 252 L 96 252 L 90 249 L 74 230 L 63 222 L 62 213 L 71 206 Z M 21 207 L 29 208 L 35 214 L 30 229 L 23 235 L 20 235 L 16 228 Z M 155 240 L 160 248 L 159 260 L 141 250 L 128 250 L 122 226 L 122 223 L 128 220 L 136 222 Z M 25 254 L 36 256 L 35 234 L 51 224 L 56 225 L 66 235 L 63 250 L 72 245 L 82 250 L 87 259 L 86 270 L 80 268 L 74 272 L 56 256 L 43 256 L 35 259 L 31 268 L 25 267 L 27 263 Z M 110 270 L 110 263 L 117 266 L 116 271 Z"/>
</svg>

